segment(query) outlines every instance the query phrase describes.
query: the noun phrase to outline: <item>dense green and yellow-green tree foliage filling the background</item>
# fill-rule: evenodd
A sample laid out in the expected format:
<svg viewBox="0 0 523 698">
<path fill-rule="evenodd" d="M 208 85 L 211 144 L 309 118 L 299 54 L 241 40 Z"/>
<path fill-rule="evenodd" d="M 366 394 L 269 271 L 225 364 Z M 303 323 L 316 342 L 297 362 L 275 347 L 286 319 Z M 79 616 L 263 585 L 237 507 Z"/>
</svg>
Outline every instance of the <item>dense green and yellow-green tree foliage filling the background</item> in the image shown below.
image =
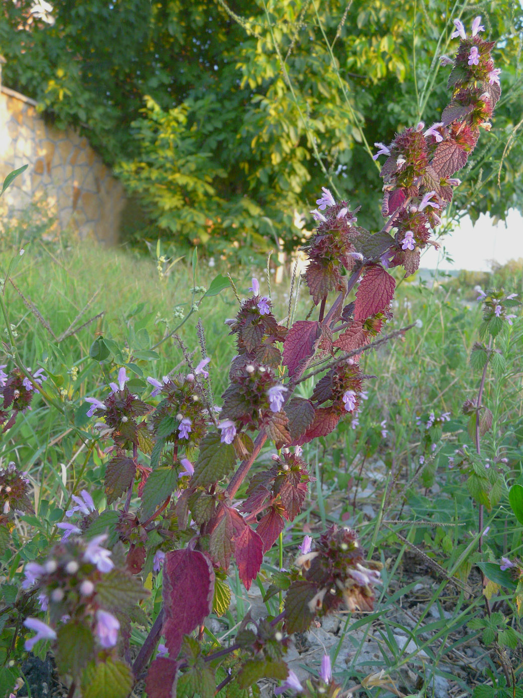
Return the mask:
<svg viewBox="0 0 523 698">
<path fill-rule="evenodd" d="M 0 10 L 4 83 L 84 131 L 144 207 L 137 235 L 210 252 L 296 246 L 321 186 L 377 230 L 374 142 L 436 121 L 452 20 L 478 14 L 443 0 L 56 0 L 51 25 L 32 3 Z M 490 3 L 482 23 L 503 94 L 452 214 L 504 218 L 523 211 L 523 8 Z"/>
</svg>

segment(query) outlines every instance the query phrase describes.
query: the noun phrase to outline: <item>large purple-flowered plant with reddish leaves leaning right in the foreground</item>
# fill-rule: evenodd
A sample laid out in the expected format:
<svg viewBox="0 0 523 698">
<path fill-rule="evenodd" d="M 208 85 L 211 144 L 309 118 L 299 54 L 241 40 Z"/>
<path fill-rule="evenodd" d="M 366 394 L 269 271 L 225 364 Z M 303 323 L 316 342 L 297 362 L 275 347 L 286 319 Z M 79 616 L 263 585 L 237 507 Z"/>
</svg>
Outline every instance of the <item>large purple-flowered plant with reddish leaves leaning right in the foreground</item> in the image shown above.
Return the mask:
<svg viewBox="0 0 523 698">
<path fill-rule="evenodd" d="M 307 629 L 317 616 L 343 604 L 372 609 L 379 563 L 365 559 L 354 531 L 331 526 L 313 545 L 306 537 L 294 569 L 273 575 L 266 591 L 266 599 L 280 593 L 281 613 L 257 622 L 245 618 L 234 643 L 204 644 L 204 621 L 229 607 L 231 565 L 249 589 L 264 554 L 300 512 L 311 480 L 302 445 L 356 415 L 370 378 L 360 370 L 362 352 L 406 329 L 377 339 L 392 317 L 389 270 L 403 267 L 409 276 L 418 269 L 420 251 L 434 244 L 430 231 L 460 184 L 455 173 L 476 147 L 480 128 L 490 130 L 501 92 L 490 56 L 494 42 L 480 38 L 480 17 L 471 36 L 459 20 L 455 25 L 453 36 L 461 42 L 455 59 L 442 59 L 452 65 L 452 96 L 441 121 L 405 128 L 388 145 L 377 143 L 375 158 L 387 156 L 381 168 L 384 227 L 371 233 L 356 225 L 358 209 L 335 201 L 326 188 L 317 200 L 304 275 L 319 306 L 317 319 L 280 325 L 271 299 L 252 279 L 250 297 L 227 321 L 238 354 L 221 409 L 213 402 L 201 331 L 202 361 L 193 366 L 186 354 L 188 373 L 149 378 L 147 399 L 130 392 L 125 367 L 105 399 L 88 399 L 99 438 L 109 441 L 107 503 L 121 505 L 100 513 L 88 491 L 73 496 L 68 521 L 59 523 L 61 542 L 41 563 L 26 565 L 22 585 L 47 614 L 47 623 L 32 617 L 36 605 L 27 614 L 24 624 L 37 634 L 26 648 L 38 639 L 52 641 L 71 696 L 79 686 L 84 697 L 124 697 L 143 678 L 150 698 L 171 697 L 176 686 L 183 695 L 212 696 L 232 681 L 256 690 L 262 677 L 285 680 L 283 688 L 303 695 L 338 692 L 327 661 L 303 686 L 289 674 L 285 653 L 289 634 Z M 294 396 L 299 383 L 320 375 L 308 399 Z M 43 391 L 42 376 L 24 378 L 15 368 L 0 377 L 6 431 L 34 392 Z M 276 450 L 271 467 L 253 468 L 267 440 Z M 1 471 L 3 535 L 13 512 L 31 506 L 27 487 L 13 466 Z M 131 622 L 149 627 L 140 605 L 148 592 L 137 575 L 160 567 L 162 609 L 132 663 Z M 161 636 L 165 645 L 158 647 Z"/>
</svg>

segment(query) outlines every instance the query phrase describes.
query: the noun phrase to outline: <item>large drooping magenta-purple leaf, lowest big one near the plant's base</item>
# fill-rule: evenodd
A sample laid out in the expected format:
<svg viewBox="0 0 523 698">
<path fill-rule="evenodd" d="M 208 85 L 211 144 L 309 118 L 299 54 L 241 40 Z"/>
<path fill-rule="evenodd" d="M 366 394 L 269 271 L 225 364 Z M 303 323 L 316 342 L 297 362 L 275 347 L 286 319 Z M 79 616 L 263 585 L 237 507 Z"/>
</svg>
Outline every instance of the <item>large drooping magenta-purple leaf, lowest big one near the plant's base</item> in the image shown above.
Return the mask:
<svg viewBox="0 0 523 698">
<path fill-rule="evenodd" d="M 163 563 L 163 634 L 169 654 L 177 657 L 183 635 L 202 625 L 213 608 L 211 560 L 197 550 L 174 550 Z"/>
</svg>

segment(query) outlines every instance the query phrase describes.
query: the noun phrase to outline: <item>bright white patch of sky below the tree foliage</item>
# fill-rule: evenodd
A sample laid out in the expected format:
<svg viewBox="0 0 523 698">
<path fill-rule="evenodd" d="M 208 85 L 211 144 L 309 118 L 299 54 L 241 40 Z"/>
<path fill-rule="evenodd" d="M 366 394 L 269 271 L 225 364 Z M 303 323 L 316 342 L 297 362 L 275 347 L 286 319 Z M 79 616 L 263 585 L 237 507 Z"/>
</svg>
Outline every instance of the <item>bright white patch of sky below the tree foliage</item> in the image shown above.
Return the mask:
<svg viewBox="0 0 523 698">
<path fill-rule="evenodd" d="M 507 227 L 502 221 L 493 225 L 490 217 L 483 214 L 476 225 L 472 225 L 469 216 L 463 218 L 460 228 L 448 235 L 443 243 L 453 263 L 446 262 L 441 251 L 428 246 L 421 257 L 420 267 L 487 272 L 490 271 L 489 260 L 504 264 L 510 259 L 523 258 L 523 218 L 518 211 L 511 209 L 506 223 Z"/>
</svg>

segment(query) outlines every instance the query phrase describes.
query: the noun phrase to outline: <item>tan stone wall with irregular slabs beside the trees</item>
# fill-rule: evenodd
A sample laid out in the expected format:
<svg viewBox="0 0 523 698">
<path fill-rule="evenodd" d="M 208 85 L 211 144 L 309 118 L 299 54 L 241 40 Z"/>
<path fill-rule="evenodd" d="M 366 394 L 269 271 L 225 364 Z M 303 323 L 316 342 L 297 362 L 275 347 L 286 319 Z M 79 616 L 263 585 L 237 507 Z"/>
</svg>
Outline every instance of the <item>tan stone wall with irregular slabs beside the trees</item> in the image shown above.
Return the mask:
<svg viewBox="0 0 523 698">
<path fill-rule="evenodd" d="M 86 138 L 71 128 L 47 126 L 35 107 L 0 82 L 0 182 L 29 165 L 0 199 L 0 229 L 3 216 L 12 219 L 36 203 L 54 216 L 52 232 L 71 228 L 82 239 L 115 244 L 126 203 L 123 187 Z"/>
</svg>

